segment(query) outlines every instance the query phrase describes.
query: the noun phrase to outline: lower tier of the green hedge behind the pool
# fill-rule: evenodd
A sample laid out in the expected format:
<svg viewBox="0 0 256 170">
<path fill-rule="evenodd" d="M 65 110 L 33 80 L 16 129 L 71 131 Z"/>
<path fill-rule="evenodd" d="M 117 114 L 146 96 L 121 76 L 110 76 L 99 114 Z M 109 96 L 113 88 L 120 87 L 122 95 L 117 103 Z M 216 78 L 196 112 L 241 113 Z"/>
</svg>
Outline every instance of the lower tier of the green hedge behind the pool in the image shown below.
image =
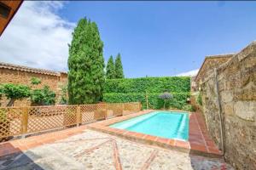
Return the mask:
<svg viewBox="0 0 256 170">
<path fill-rule="evenodd" d="M 161 93 L 148 94 L 148 103 L 151 109 L 161 109 L 163 107 L 163 100 L 159 99 Z M 190 93 L 172 93 L 173 99 L 166 104 L 166 107 L 172 107 L 177 109 L 183 109 L 187 105 L 187 98 Z M 140 101 L 143 104 L 143 108 L 146 108 L 145 93 L 112 93 L 103 94 L 103 101 L 108 103 L 125 103 Z"/>
</svg>

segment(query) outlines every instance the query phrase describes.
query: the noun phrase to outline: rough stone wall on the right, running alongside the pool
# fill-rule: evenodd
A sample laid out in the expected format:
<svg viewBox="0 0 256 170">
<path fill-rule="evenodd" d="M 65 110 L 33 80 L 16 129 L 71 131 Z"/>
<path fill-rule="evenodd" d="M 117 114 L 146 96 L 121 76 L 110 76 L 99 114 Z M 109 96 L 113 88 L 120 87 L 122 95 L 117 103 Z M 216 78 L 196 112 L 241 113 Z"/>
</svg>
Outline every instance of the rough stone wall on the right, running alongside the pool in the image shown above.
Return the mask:
<svg viewBox="0 0 256 170">
<path fill-rule="evenodd" d="M 236 169 L 256 169 L 256 42 L 220 65 L 217 79 L 212 71 L 200 86 L 207 128 L 221 148 L 219 94 L 226 161 Z"/>
</svg>

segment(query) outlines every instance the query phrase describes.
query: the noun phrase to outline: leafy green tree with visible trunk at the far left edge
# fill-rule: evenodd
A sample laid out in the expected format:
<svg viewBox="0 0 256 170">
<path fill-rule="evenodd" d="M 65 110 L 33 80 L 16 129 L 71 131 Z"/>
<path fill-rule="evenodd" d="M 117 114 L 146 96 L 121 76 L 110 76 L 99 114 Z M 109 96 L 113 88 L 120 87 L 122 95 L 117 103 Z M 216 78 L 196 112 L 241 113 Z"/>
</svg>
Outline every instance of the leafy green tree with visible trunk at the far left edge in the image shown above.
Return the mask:
<svg viewBox="0 0 256 170">
<path fill-rule="evenodd" d="M 1 93 L 9 99 L 7 106 L 13 106 L 16 99 L 26 99 L 31 94 L 30 88 L 21 84 L 6 83 L 1 89 Z"/>
</svg>

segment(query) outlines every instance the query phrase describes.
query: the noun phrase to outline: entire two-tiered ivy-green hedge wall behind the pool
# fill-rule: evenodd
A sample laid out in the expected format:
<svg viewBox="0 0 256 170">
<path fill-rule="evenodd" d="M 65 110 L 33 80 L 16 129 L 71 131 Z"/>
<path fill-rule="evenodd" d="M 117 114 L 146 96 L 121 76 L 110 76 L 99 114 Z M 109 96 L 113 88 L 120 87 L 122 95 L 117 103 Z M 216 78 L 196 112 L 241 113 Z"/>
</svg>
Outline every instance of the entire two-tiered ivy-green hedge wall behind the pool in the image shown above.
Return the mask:
<svg viewBox="0 0 256 170">
<path fill-rule="evenodd" d="M 146 93 L 150 108 L 160 109 L 159 95 L 169 92 L 173 99 L 166 106 L 187 110 L 190 96 L 189 77 L 143 77 L 111 79 L 105 82 L 103 101 L 109 103 L 140 101 L 146 108 Z"/>
</svg>

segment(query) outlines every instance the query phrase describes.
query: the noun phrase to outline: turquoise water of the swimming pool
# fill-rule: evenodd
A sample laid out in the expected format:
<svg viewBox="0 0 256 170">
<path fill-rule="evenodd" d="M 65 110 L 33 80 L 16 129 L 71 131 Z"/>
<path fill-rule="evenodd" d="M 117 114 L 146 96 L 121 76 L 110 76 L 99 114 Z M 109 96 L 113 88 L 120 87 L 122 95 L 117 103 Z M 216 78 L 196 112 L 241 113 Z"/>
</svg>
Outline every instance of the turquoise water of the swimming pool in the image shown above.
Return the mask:
<svg viewBox="0 0 256 170">
<path fill-rule="evenodd" d="M 167 139 L 189 138 L 189 114 L 174 111 L 154 111 L 137 116 L 109 127 L 145 133 Z"/>
</svg>

